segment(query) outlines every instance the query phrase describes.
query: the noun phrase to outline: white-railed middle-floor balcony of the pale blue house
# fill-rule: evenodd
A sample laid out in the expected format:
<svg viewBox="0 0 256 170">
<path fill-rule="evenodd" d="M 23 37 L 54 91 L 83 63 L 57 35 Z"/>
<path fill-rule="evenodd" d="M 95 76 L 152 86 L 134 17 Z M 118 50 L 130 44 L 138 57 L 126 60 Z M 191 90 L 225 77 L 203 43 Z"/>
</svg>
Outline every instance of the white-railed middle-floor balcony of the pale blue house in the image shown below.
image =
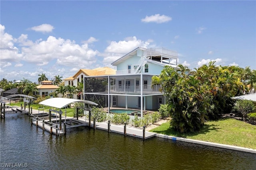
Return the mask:
<svg viewBox="0 0 256 170">
<path fill-rule="evenodd" d="M 142 86 L 143 92 L 148 93 L 161 93 L 160 91 L 161 86 L 156 85 L 153 88 L 151 88 L 150 85 L 144 85 Z M 106 86 L 106 91 L 108 91 L 108 86 Z M 110 86 L 110 92 L 116 92 L 116 93 L 140 93 L 140 86 L 119 86 L 119 85 L 111 85 Z"/>
</svg>

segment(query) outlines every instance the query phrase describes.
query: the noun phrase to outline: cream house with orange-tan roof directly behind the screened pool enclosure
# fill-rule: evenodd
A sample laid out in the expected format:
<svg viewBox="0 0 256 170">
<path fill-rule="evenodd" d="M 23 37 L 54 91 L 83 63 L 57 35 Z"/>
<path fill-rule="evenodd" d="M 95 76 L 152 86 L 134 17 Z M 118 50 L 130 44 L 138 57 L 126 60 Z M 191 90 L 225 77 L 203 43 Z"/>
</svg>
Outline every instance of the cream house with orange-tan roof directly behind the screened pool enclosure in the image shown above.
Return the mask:
<svg viewBox="0 0 256 170">
<path fill-rule="evenodd" d="M 95 69 L 80 69 L 76 72 L 72 77 L 68 77 L 64 80 L 65 86 L 75 86 L 77 87 L 79 83 L 84 83 L 84 77 L 86 76 L 98 76 L 98 75 L 115 75 L 116 70 L 110 67 L 99 67 Z M 84 99 L 82 93 L 74 94 L 66 94 L 69 98 L 70 95 L 73 95 L 71 98 L 73 99 Z"/>
</svg>

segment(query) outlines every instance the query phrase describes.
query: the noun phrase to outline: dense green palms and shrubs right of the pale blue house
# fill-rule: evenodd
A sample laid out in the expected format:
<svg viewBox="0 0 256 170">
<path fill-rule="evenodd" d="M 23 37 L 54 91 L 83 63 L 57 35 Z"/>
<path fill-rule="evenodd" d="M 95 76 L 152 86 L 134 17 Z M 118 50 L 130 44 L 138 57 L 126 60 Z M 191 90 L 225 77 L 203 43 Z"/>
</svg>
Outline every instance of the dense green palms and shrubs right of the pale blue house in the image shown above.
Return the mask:
<svg viewBox="0 0 256 170">
<path fill-rule="evenodd" d="M 152 77 L 152 87 L 162 86 L 172 118 L 170 125 L 179 132 L 200 130 L 205 121 L 231 111 L 234 101 L 230 97 L 256 88 L 256 70 L 214 63 L 194 71 L 184 65 L 178 65 L 177 71 L 165 66 L 159 76 Z"/>
</svg>

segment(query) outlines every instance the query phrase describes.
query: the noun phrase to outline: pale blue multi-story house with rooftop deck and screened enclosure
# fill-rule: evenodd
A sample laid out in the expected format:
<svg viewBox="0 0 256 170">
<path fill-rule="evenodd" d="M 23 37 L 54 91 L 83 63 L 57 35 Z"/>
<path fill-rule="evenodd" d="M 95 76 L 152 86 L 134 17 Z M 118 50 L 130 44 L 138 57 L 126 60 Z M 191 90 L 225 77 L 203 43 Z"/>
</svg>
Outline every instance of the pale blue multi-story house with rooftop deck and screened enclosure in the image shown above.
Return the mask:
<svg viewBox="0 0 256 170">
<path fill-rule="evenodd" d="M 116 75 L 87 76 L 84 95 L 100 98 L 99 101 L 104 101 L 100 105 L 108 110 L 110 107 L 140 109 L 141 113 L 157 110 L 166 99 L 159 91 L 160 85 L 151 88 L 152 76 L 159 75 L 165 65 L 178 69 L 177 60 L 177 51 L 138 47 L 112 63 L 117 67 Z"/>
</svg>

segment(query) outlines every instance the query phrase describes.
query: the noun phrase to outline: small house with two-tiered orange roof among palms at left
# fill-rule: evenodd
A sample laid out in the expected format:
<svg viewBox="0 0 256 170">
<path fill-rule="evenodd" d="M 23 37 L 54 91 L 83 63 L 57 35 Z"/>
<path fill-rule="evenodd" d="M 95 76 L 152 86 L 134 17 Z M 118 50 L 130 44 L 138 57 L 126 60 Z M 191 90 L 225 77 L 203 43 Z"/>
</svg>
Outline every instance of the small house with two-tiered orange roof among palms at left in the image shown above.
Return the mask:
<svg viewBox="0 0 256 170">
<path fill-rule="evenodd" d="M 42 97 L 46 97 L 50 95 L 50 93 L 58 89 L 59 87 L 56 85 L 53 85 L 52 81 L 45 80 L 41 82 L 41 85 L 36 86 L 36 88 L 38 89 L 38 95 Z"/>
</svg>

